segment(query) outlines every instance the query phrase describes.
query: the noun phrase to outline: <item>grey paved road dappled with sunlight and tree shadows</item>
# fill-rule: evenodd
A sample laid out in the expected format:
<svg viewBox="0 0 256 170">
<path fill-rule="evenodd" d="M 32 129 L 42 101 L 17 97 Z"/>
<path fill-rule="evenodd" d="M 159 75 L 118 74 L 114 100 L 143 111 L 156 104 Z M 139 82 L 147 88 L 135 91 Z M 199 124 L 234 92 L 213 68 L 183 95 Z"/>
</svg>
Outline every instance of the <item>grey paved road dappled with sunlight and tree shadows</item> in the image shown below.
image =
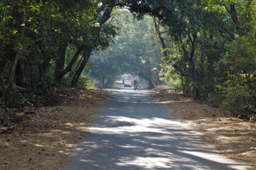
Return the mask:
<svg viewBox="0 0 256 170">
<path fill-rule="evenodd" d="M 112 92 L 65 170 L 246 169 L 170 113 L 147 92 Z"/>
</svg>

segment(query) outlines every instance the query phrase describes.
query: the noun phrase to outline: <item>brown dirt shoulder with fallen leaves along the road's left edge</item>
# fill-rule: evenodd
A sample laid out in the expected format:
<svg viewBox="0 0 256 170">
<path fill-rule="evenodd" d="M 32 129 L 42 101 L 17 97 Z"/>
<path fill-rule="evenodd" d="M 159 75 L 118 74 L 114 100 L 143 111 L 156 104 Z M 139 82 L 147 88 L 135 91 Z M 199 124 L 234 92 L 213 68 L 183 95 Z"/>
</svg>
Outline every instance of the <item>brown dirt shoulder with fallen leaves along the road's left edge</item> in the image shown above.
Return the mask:
<svg viewBox="0 0 256 170">
<path fill-rule="evenodd" d="M 9 132 L 0 129 L 0 169 L 60 169 L 107 101 L 104 90 L 71 90 L 62 103 L 40 107 Z"/>
</svg>

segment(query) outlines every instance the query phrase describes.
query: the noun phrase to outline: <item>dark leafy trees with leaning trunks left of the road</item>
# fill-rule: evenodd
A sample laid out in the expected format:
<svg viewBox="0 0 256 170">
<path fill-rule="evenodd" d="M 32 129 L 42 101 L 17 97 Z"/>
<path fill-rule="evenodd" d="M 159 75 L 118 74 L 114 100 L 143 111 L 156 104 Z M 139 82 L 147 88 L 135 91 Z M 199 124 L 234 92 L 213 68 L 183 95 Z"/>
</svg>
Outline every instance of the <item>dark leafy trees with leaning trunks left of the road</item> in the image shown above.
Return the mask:
<svg viewBox="0 0 256 170">
<path fill-rule="evenodd" d="M 105 24 L 114 6 L 104 0 L 1 1 L 0 103 L 33 106 L 52 87 L 76 87 L 91 52 L 116 35 L 116 27 Z"/>
</svg>

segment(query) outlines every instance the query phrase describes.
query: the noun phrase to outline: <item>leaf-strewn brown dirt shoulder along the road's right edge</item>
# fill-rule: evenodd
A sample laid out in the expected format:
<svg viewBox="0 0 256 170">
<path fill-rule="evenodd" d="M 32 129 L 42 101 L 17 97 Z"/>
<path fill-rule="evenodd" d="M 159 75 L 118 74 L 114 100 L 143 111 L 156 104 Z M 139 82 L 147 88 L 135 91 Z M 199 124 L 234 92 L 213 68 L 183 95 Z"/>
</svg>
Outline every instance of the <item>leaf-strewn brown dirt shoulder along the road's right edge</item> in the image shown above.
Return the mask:
<svg viewBox="0 0 256 170">
<path fill-rule="evenodd" d="M 231 117 L 225 110 L 200 104 L 181 94 L 154 92 L 171 114 L 202 132 L 202 140 L 216 146 L 221 154 L 256 169 L 256 124 Z"/>
</svg>

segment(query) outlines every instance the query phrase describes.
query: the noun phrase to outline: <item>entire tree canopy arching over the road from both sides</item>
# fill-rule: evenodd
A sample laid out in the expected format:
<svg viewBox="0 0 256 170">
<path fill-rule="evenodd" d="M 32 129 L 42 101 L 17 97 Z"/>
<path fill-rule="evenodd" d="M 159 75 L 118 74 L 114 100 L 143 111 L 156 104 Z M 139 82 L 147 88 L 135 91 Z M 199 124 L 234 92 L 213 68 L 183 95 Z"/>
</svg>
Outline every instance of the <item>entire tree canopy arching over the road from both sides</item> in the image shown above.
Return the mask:
<svg viewBox="0 0 256 170">
<path fill-rule="evenodd" d="M 106 77 L 132 70 L 148 81 L 149 70 L 160 64 L 163 55 L 163 81 L 168 86 L 194 98 L 220 96 L 221 106 L 234 114 L 255 112 L 255 3 L 3 0 L 2 110 L 34 106 L 53 87 L 80 86 L 79 82 L 84 82 L 79 81 L 80 75 L 91 53 L 95 53 L 91 63 L 103 62 L 108 67 L 107 63 L 116 62 L 115 67 L 105 72 Z M 113 11 L 115 8 L 125 10 Z M 144 20 L 135 25 L 135 21 L 125 17 L 128 11 Z M 152 23 L 154 29 L 149 28 Z M 149 30 L 158 40 L 151 38 Z M 162 46 L 159 50 L 164 49 L 163 53 L 157 53 L 155 44 Z M 110 61 L 113 58 L 118 60 Z M 96 76 L 98 70 L 94 64 L 91 74 Z"/>
</svg>

